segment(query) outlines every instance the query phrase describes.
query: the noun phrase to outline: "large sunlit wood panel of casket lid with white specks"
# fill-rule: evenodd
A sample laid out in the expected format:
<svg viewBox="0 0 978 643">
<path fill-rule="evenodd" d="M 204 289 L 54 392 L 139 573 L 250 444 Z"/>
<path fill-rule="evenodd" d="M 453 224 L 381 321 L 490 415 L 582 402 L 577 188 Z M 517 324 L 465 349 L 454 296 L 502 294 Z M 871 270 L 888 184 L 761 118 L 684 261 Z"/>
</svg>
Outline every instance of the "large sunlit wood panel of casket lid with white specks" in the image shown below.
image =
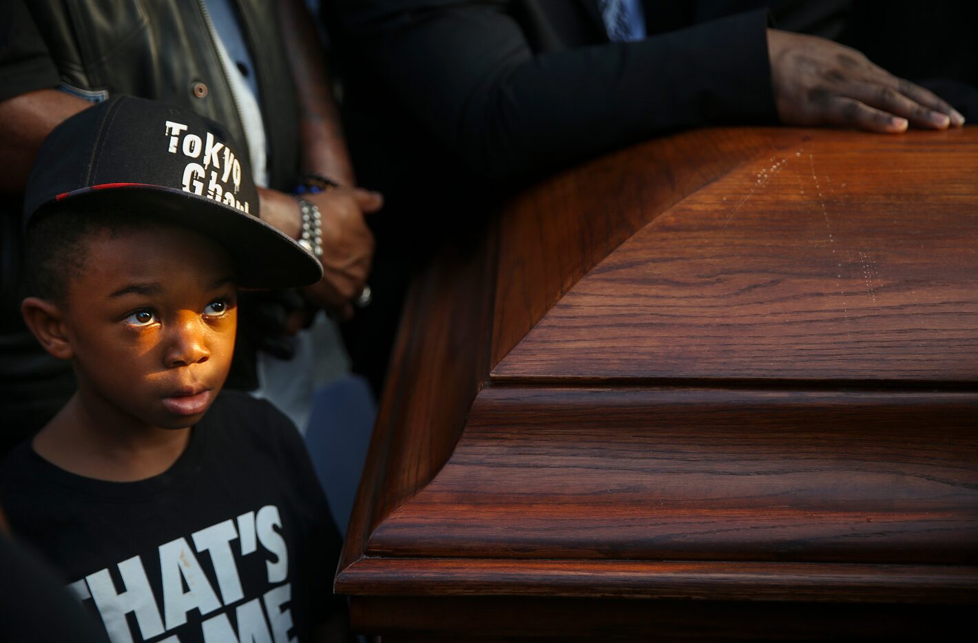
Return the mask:
<svg viewBox="0 0 978 643">
<path fill-rule="evenodd" d="M 781 132 L 611 252 L 493 378 L 974 382 L 976 241 L 974 130 Z"/>
</svg>

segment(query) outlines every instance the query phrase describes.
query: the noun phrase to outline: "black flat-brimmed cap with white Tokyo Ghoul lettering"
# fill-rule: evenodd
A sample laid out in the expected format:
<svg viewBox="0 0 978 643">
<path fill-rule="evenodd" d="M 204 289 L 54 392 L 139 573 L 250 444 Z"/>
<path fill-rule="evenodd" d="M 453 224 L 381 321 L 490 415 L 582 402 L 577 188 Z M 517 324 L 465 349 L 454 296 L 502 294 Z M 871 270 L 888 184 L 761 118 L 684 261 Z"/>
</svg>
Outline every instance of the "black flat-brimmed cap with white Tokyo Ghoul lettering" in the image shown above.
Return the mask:
<svg viewBox="0 0 978 643">
<path fill-rule="evenodd" d="M 116 96 L 68 118 L 37 154 L 24 225 L 58 203 L 148 216 L 208 236 L 229 252 L 244 287 L 297 287 L 323 277 L 311 252 L 258 218 L 246 150 L 187 109 Z"/>
</svg>

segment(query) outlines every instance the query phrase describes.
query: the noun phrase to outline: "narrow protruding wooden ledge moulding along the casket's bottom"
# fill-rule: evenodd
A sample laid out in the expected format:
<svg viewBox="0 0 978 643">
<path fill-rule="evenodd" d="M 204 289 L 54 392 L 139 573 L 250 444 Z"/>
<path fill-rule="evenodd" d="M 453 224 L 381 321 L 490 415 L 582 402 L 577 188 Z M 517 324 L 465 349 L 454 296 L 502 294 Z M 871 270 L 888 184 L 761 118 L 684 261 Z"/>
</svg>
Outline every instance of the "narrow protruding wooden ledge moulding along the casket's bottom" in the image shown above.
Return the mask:
<svg viewBox="0 0 978 643">
<path fill-rule="evenodd" d="M 366 558 L 339 589 L 370 587 L 378 596 L 974 605 L 975 578 L 963 566 L 937 565 Z"/>
</svg>

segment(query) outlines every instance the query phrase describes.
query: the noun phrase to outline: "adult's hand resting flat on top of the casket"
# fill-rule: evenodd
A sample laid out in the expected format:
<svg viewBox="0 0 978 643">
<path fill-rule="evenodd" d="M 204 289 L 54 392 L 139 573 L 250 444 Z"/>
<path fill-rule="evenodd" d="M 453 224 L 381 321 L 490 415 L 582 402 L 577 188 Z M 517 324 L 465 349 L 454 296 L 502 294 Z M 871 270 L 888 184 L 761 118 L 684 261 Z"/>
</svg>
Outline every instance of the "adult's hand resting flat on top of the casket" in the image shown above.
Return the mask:
<svg viewBox="0 0 978 643">
<path fill-rule="evenodd" d="M 896 133 L 909 124 L 945 129 L 964 123 L 933 93 L 830 40 L 768 29 L 768 54 L 778 117 L 785 124 Z"/>
</svg>

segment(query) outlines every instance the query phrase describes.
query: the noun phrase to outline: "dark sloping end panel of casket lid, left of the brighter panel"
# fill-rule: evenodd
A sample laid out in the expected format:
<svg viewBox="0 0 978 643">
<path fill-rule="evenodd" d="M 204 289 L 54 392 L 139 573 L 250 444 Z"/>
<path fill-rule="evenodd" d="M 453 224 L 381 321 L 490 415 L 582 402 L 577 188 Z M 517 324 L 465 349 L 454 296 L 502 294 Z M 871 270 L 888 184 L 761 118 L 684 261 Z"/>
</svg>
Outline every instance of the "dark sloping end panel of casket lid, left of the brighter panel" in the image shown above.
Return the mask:
<svg viewBox="0 0 978 643">
<path fill-rule="evenodd" d="M 519 195 L 501 216 L 492 363 L 622 241 L 782 135 L 694 130 L 605 156 Z"/>
</svg>

